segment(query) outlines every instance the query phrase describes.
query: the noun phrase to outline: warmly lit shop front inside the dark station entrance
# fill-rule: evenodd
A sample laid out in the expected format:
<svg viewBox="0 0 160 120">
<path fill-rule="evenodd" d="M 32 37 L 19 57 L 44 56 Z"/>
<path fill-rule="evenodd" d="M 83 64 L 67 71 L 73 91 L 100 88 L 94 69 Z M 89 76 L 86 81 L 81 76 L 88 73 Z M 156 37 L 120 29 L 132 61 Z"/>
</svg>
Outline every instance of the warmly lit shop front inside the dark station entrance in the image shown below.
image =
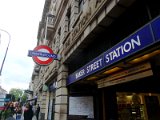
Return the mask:
<svg viewBox="0 0 160 120">
<path fill-rule="evenodd" d="M 159 120 L 160 94 L 157 93 L 117 93 L 119 120 Z"/>
</svg>

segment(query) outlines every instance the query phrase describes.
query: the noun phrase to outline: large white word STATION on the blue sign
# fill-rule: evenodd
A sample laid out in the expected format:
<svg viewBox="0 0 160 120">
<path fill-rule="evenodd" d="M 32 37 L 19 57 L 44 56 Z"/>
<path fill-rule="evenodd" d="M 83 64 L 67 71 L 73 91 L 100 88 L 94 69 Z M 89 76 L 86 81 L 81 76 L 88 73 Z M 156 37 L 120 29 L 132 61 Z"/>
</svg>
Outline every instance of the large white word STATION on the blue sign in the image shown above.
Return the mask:
<svg viewBox="0 0 160 120">
<path fill-rule="evenodd" d="M 118 57 L 120 57 L 121 55 L 123 55 L 124 53 L 127 53 L 131 50 L 134 50 L 136 46 L 141 46 L 141 41 L 139 36 L 136 36 L 136 39 L 131 39 L 130 41 L 124 43 L 124 45 L 121 45 L 119 47 L 117 47 L 115 50 L 109 52 L 108 54 L 105 55 L 105 62 L 108 63 Z"/>
</svg>

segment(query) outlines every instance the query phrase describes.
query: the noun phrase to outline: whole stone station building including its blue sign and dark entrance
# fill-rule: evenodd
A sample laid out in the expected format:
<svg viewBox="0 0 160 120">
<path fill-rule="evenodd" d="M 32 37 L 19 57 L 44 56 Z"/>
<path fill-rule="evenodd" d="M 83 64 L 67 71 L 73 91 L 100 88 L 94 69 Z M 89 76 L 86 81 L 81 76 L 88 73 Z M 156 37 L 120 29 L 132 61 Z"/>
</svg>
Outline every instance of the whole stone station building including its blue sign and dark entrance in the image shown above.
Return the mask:
<svg viewBox="0 0 160 120">
<path fill-rule="evenodd" d="M 160 101 L 159 14 L 158 0 L 46 0 L 37 46 L 60 60 L 33 70 L 41 119 L 156 116 L 149 106 Z"/>
</svg>

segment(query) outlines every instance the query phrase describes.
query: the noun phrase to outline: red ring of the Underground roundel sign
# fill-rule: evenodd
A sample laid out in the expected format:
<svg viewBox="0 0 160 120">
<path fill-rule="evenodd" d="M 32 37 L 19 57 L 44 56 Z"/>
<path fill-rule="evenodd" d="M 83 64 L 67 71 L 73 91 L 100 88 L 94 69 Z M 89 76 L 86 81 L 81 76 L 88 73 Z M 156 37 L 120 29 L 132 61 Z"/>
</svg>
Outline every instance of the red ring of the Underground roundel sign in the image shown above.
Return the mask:
<svg viewBox="0 0 160 120">
<path fill-rule="evenodd" d="M 52 49 L 50 47 L 46 46 L 46 45 L 37 46 L 37 47 L 34 48 L 34 51 L 39 51 L 41 49 L 45 49 L 46 51 L 48 51 L 48 53 L 54 54 Z M 37 56 L 33 56 L 32 58 L 37 64 L 40 64 L 40 65 L 48 65 L 51 62 L 53 62 L 53 58 L 48 58 L 47 60 L 44 60 L 44 61 L 40 60 Z"/>
</svg>

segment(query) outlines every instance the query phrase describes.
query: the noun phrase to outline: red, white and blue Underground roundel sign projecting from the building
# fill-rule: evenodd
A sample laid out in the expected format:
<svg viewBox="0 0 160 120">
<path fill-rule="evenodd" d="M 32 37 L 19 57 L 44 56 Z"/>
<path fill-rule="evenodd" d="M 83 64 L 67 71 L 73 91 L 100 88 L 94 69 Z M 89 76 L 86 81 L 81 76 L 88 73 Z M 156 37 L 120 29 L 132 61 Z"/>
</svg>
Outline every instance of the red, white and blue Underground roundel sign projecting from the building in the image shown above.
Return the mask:
<svg viewBox="0 0 160 120">
<path fill-rule="evenodd" d="M 53 60 L 59 60 L 60 57 L 54 54 L 52 49 L 46 45 L 40 45 L 34 48 L 34 50 L 29 50 L 28 56 L 32 57 L 33 60 L 40 65 L 48 65 Z"/>
</svg>

